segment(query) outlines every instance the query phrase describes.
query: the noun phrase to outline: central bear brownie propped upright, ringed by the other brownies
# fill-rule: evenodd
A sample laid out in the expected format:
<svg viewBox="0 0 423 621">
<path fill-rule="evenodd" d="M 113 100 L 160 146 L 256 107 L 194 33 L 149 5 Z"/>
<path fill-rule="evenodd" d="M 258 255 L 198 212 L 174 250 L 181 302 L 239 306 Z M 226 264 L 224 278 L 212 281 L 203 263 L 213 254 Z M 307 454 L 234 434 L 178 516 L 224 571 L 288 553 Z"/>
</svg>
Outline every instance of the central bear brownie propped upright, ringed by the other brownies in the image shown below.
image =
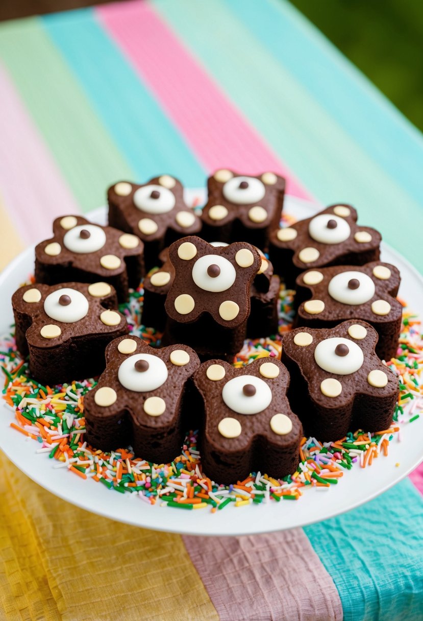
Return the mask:
<svg viewBox="0 0 423 621">
<path fill-rule="evenodd" d="M 199 237 L 172 243 L 174 279 L 166 296 L 163 343 L 185 343 L 207 360 L 231 360 L 243 345 L 250 287 L 262 260 L 248 243 L 215 247 Z"/>
</svg>

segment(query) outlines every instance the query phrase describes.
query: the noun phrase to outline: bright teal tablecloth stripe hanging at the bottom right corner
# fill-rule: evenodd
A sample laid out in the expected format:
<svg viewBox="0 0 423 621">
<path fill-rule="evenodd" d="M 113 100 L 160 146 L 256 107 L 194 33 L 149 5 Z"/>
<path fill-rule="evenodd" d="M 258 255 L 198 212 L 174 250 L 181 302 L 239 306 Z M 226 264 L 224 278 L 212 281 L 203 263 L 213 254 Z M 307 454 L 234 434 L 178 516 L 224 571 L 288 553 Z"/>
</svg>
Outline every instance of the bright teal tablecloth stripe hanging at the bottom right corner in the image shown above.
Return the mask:
<svg viewBox="0 0 423 621">
<path fill-rule="evenodd" d="M 423 619 L 423 498 L 408 479 L 304 530 L 336 584 L 344 621 Z"/>
</svg>

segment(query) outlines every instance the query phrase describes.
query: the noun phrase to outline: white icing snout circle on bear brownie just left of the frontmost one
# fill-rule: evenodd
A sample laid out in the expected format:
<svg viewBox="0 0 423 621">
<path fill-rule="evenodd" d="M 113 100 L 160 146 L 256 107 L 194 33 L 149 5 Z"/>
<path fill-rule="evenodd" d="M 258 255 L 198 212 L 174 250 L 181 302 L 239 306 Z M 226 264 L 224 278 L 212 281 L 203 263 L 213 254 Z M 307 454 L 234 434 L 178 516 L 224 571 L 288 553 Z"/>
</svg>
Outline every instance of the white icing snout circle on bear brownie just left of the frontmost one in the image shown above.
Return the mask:
<svg viewBox="0 0 423 621">
<path fill-rule="evenodd" d="M 145 371 L 136 368 L 140 361 L 148 365 Z M 167 366 L 161 358 L 149 353 L 136 353 L 125 358 L 118 369 L 118 380 L 124 388 L 134 392 L 150 392 L 166 382 Z"/>
</svg>

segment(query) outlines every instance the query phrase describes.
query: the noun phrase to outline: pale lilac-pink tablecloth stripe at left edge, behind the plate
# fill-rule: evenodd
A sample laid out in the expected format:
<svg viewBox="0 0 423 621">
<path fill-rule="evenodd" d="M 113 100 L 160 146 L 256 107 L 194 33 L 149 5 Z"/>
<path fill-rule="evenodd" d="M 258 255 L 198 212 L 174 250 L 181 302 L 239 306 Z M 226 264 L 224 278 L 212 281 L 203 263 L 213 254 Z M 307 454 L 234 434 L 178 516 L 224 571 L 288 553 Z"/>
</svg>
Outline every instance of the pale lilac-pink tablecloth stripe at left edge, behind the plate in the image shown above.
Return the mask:
<svg viewBox="0 0 423 621">
<path fill-rule="evenodd" d="M 1 64 L 0 93 L 1 193 L 24 242 L 37 242 L 53 218 L 79 206 Z"/>
</svg>

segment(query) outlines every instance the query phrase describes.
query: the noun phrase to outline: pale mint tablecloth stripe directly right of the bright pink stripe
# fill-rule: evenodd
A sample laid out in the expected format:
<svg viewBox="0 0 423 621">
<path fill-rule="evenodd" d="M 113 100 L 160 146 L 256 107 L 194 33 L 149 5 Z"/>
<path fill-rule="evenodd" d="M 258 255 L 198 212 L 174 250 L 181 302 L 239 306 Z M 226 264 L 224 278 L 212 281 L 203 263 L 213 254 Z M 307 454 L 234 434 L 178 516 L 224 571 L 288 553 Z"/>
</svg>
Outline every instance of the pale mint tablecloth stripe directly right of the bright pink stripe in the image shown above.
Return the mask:
<svg viewBox="0 0 423 621">
<path fill-rule="evenodd" d="M 363 225 L 381 228 L 388 243 L 423 266 L 417 225 L 421 206 L 360 148 L 229 6 L 215 0 L 197 4 L 193 11 L 190 0 L 154 2 L 156 11 L 319 201 L 351 202 Z M 266 6 L 262 2 L 260 11 Z M 397 215 L 411 223 L 404 247 Z"/>
</svg>

